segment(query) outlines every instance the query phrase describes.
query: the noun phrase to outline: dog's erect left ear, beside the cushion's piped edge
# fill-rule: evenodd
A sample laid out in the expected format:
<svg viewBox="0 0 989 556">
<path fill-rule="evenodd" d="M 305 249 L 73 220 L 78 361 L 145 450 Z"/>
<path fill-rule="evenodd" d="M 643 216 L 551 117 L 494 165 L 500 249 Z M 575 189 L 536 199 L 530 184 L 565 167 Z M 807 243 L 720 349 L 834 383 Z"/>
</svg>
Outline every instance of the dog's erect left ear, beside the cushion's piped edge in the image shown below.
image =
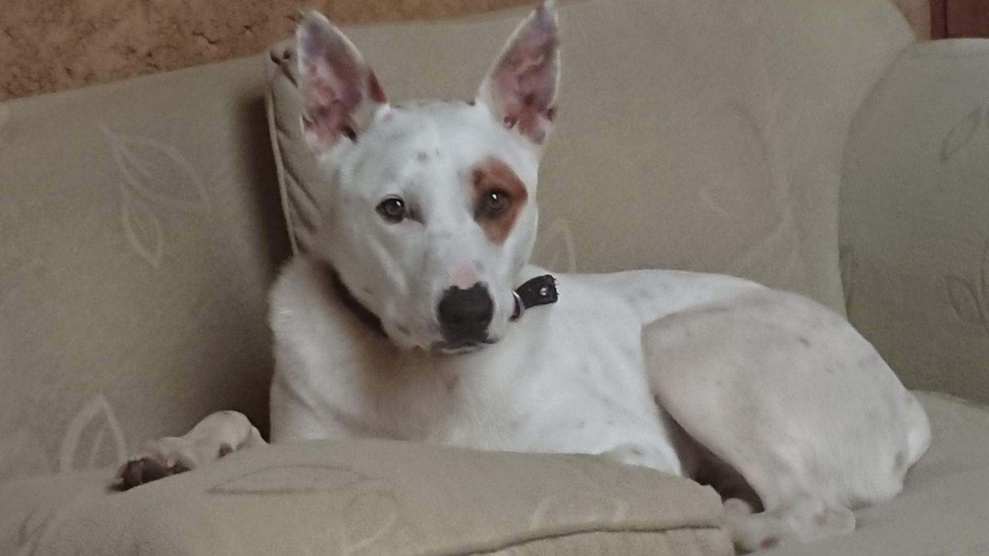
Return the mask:
<svg viewBox="0 0 989 556">
<path fill-rule="evenodd" d="M 361 53 L 318 12 L 309 12 L 296 31 L 303 132 L 316 152 L 338 140 L 356 141 L 385 92 Z"/>
</svg>

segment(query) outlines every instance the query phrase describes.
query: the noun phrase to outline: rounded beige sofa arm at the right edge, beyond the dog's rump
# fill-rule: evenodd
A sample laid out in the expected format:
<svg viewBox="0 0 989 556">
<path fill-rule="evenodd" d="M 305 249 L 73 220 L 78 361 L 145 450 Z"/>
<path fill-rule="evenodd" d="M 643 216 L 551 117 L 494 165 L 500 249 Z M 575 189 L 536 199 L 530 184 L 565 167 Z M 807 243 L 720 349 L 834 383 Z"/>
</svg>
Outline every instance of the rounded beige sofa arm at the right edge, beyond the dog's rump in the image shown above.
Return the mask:
<svg viewBox="0 0 989 556">
<path fill-rule="evenodd" d="M 852 322 L 911 387 L 989 402 L 989 41 L 909 48 L 846 151 Z"/>
</svg>

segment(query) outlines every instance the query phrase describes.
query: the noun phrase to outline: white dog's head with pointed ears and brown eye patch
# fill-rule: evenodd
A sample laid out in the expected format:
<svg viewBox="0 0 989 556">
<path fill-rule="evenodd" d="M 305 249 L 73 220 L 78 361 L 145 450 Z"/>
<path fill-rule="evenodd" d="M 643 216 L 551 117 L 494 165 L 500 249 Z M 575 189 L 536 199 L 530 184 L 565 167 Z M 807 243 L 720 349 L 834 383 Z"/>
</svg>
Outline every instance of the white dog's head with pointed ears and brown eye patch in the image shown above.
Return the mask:
<svg viewBox="0 0 989 556">
<path fill-rule="evenodd" d="M 472 102 L 389 105 L 357 48 L 317 13 L 297 46 L 303 132 L 333 188 L 315 254 L 400 345 L 497 341 L 536 235 L 560 67 L 552 3 L 519 25 Z"/>
</svg>

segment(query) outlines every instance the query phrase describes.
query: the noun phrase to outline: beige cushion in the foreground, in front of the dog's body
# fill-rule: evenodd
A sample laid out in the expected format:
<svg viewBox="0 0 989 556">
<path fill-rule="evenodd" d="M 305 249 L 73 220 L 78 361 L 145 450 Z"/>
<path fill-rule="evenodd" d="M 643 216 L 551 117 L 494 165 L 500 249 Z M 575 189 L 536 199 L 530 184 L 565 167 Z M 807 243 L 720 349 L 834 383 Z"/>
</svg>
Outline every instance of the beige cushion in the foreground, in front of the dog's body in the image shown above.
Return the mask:
<svg viewBox="0 0 989 556">
<path fill-rule="evenodd" d="M 713 490 L 591 456 L 394 441 L 238 452 L 126 494 L 106 475 L 0 487 L 0 553 L 730 554 Z"/>
</svg>

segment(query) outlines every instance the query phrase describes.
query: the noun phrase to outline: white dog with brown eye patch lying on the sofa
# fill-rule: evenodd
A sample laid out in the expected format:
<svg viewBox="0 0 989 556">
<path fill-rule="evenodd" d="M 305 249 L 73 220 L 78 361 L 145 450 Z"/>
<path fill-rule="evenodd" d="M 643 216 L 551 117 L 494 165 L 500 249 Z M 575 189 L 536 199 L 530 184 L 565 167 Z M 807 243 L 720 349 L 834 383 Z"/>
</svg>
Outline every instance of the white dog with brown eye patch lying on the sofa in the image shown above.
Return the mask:
<svg viewBox="0 0 989 556">
<path fill-rule="evenodd" d="M 527 265 L 560 69 L 552 4 L 470 103 L 389 105 L 319 14 L 297 41 L 303 130 L 332 191 L 313 252 L 272 293 L 274 442 L 604 454 L 713 484 L 745 550 L 848 533 L 851 509 L 900 492 L 928 417 L 838 315 L 723 275 Z M 214 414 L 120 480 L 258 444 L 246 417 Z"/>
</svg>

